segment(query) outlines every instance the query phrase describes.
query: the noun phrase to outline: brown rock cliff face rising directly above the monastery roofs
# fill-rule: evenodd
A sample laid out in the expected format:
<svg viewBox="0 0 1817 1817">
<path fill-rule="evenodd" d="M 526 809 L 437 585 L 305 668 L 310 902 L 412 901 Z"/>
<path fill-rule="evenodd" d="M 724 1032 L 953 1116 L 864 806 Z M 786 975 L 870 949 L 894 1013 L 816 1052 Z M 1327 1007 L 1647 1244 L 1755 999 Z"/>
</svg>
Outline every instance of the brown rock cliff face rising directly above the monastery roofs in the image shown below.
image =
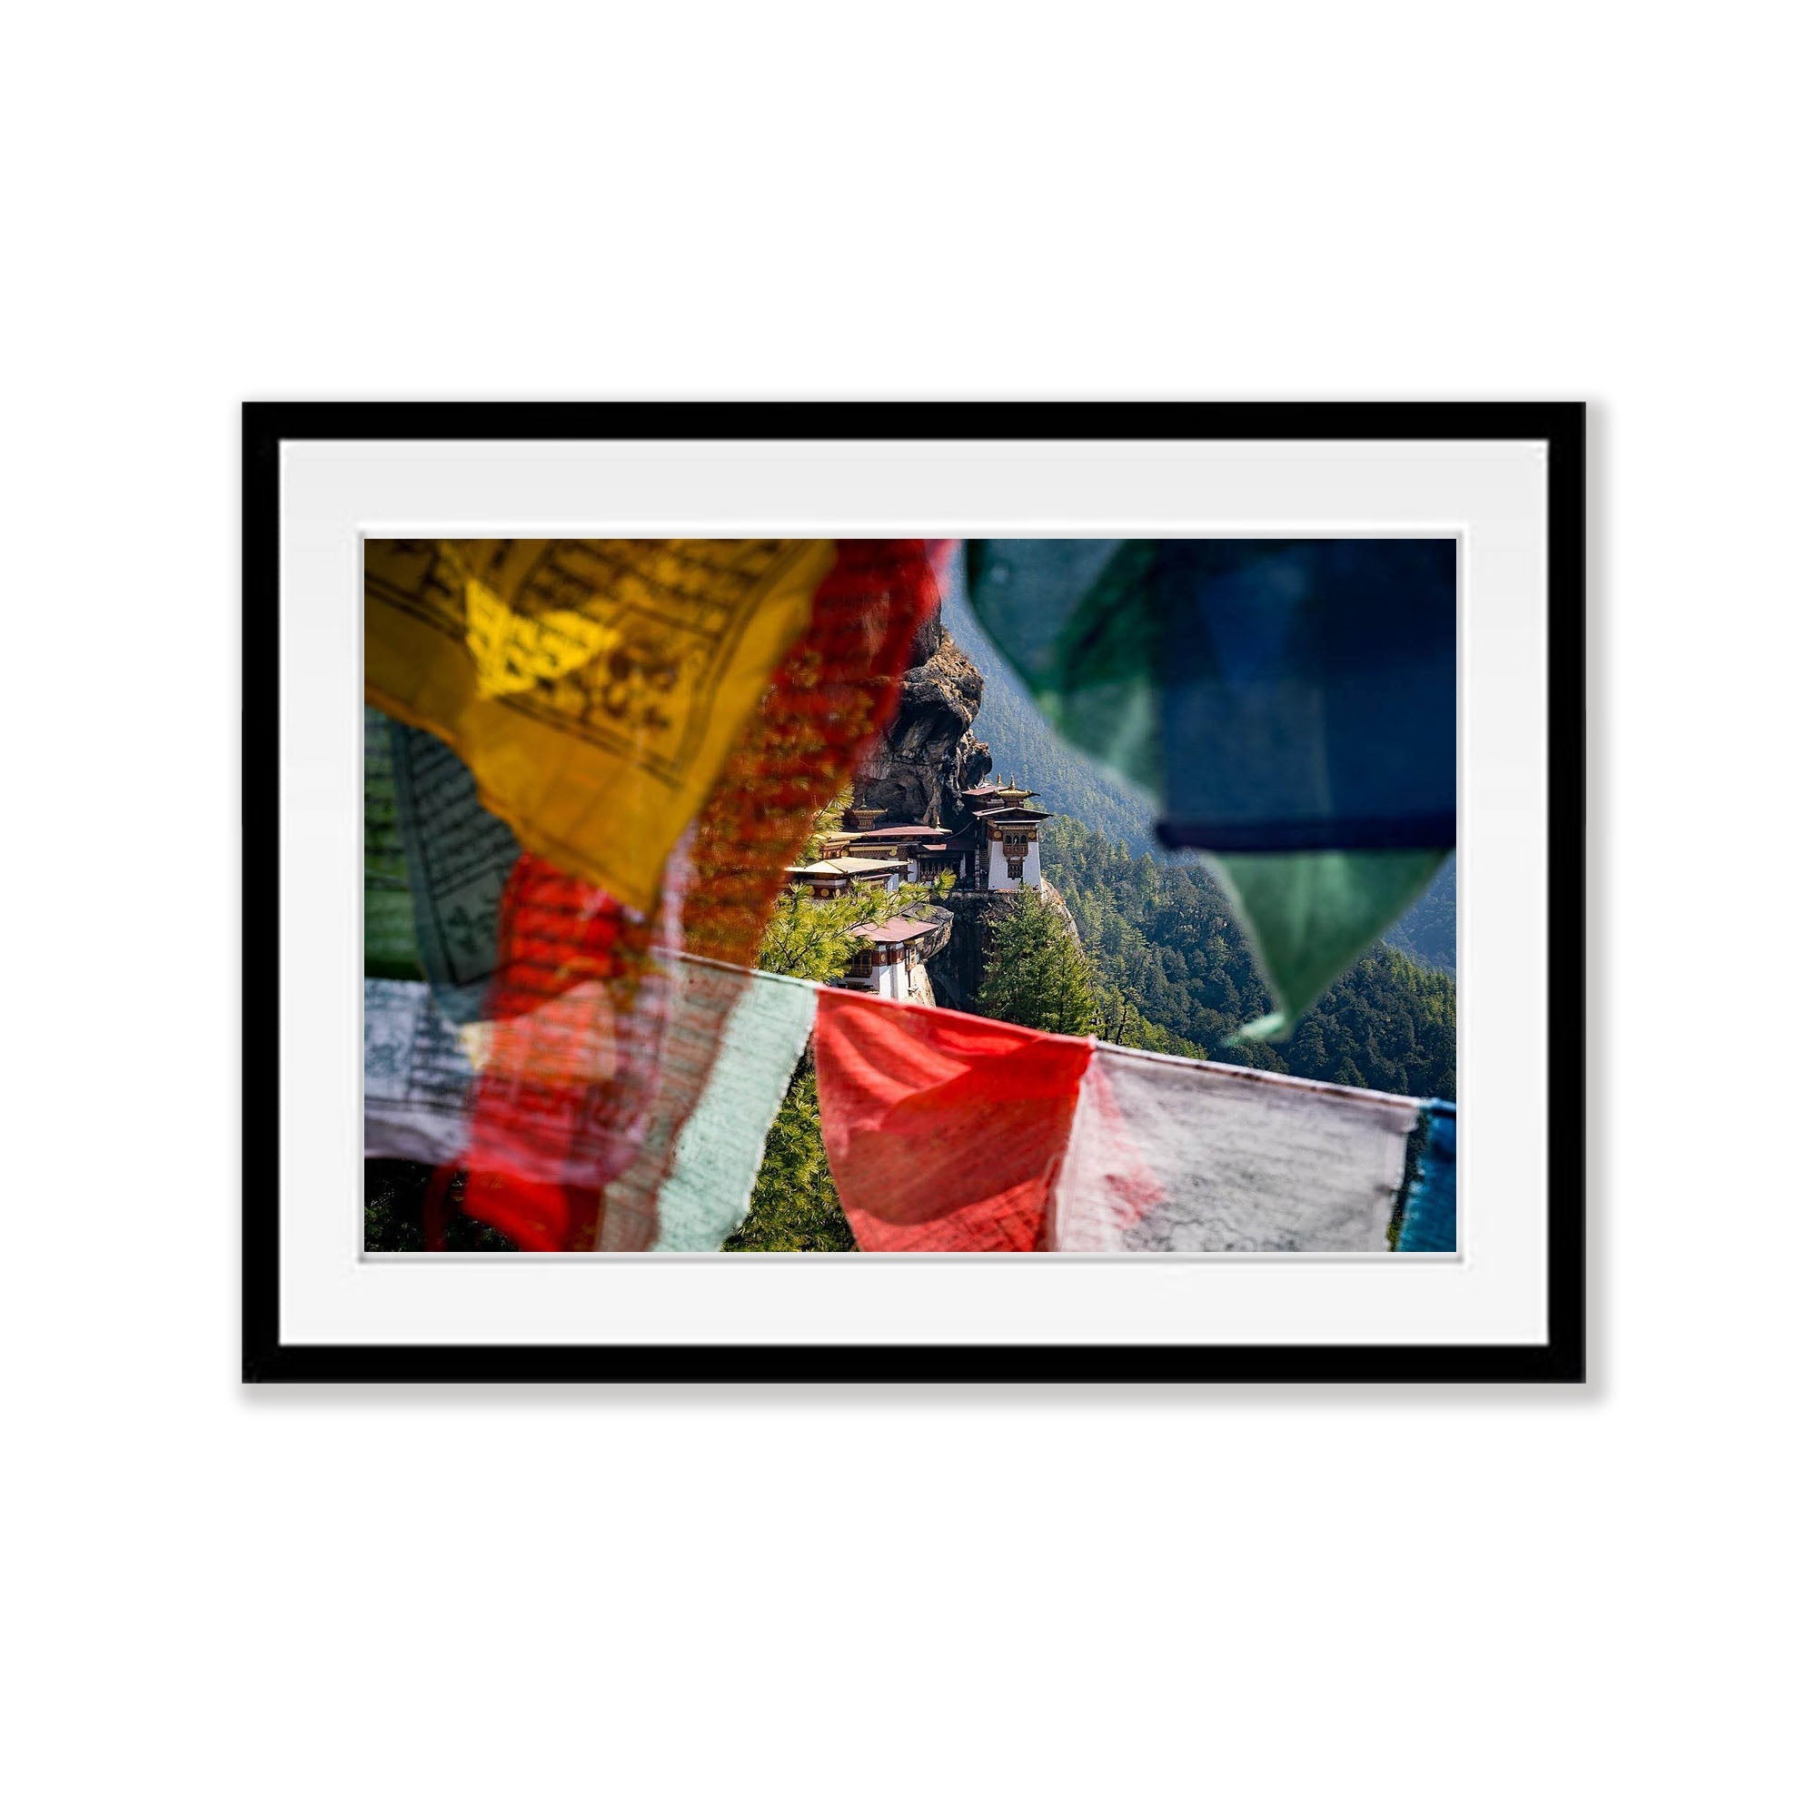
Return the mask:
<svg viewBox="0 0 1817 1817">
<path fill-rule="evenodd" d="M 896 721 L 852 779 L 852 805 L 883 809 L 885 823 L 968 823 L 961 789 L 990 774 L 990 747 L 972 736 L 985 683 L 972 660 L 930 620 L 903 676 Z"/>
</svg>

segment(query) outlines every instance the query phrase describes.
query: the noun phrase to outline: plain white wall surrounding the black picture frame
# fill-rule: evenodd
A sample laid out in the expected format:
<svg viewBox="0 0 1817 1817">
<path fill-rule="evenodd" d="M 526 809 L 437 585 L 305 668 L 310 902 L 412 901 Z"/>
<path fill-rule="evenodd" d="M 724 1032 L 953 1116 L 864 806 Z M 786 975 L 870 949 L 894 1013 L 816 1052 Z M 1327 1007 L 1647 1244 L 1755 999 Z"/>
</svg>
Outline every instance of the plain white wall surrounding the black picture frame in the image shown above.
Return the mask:
<svg viewBox="0 0 1817 1817">
<path fill-rule="evenodd" d="M 1808 35 L 15 18 L 7 1802 L 1808 1797 Z M 1595 1385 L 242 1390 L 243 396 L 1588 396 Z"/>
</svg>

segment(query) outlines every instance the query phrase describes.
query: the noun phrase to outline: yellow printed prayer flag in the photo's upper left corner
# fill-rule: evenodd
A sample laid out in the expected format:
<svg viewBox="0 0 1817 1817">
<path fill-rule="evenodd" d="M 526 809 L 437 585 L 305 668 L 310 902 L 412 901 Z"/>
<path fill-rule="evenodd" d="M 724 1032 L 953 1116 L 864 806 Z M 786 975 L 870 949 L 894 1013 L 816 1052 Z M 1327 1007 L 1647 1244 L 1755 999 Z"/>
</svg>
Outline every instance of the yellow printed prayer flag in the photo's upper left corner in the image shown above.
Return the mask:
<svg viewBox="0 0 1817 1817">
<path fill-rule="evenodd" d="M 365 698 L 447 740 L 523 847 L 649 912 L 807 630 L 830 541 L 365 545 Z"/>
</svg>

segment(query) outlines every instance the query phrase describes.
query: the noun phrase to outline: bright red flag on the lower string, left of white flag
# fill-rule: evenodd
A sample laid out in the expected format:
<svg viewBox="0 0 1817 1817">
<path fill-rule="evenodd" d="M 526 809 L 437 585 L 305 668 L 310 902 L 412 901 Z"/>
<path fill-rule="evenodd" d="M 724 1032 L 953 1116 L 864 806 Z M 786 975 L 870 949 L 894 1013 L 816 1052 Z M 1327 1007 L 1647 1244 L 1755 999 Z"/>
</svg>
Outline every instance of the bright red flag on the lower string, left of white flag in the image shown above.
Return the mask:
<svg viewBox="0 0 1817 1817">
<path fill-rule="evenodd" d="M 1054 1183 L 1092 1043 L 823 990 L 821 1137 L 867 1250 L 1052 1246 Z"/>
</svg>

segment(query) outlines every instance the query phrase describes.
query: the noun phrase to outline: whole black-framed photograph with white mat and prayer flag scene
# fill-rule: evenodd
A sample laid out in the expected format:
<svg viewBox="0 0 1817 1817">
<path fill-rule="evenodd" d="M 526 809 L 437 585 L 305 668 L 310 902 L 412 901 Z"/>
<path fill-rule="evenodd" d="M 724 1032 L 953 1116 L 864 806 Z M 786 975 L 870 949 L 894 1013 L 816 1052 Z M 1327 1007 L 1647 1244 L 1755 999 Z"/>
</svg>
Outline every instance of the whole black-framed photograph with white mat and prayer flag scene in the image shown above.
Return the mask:
<svg viewBox="0 0 1817 1817">
<path fill-rule="evenodd" d="M 243 485 L 247 1381 L 1583 1381 L 1581 405 Z"/>
</svg>

